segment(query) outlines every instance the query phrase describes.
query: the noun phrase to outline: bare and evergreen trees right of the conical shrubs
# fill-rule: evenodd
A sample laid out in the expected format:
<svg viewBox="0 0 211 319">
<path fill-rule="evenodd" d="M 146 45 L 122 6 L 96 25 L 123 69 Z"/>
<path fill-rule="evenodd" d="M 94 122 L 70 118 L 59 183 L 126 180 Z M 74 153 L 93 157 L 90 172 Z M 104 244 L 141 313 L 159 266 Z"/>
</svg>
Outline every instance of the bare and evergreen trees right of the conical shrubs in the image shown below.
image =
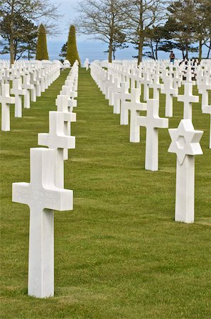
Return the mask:
<svg viewBox="0 0 211 319">
<path fill-rule="evenodd" d="M 210 0 L 81 0 L 75 24 L 82 34 L 94 35 L 108 45 L 109 62 L 117 49 L 132 43 L 138 64 L 147 55 L 158 59 L 158 51 L 190 52 L 211 50 Z"/>
</svg>

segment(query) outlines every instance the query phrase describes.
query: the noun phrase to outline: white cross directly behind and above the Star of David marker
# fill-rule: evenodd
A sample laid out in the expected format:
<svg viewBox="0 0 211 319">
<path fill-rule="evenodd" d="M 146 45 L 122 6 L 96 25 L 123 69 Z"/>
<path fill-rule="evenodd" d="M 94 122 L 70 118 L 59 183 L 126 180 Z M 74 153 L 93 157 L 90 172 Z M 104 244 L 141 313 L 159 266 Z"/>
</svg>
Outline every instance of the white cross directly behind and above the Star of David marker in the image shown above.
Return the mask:
<svg viewBox="0 0 211 319">
<path fill-rule="evenodd" d="M 198 103 L 199 101 L 199 96 L 193 95 L 192 83 L 184 84 L 184 94 L 178 95 L 178 101 L 183 102 L 184 105 L 183 118 L 192 120 L 192 103 Z"/>
</svg>

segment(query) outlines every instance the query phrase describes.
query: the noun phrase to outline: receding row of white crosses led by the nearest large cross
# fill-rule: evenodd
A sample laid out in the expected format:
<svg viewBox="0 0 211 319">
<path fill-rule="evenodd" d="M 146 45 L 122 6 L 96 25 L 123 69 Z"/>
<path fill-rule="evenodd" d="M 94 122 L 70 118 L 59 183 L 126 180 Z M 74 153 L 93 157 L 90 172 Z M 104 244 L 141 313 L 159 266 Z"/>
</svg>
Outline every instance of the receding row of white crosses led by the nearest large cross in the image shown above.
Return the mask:
<svg viewBox="0 0 211 319">
<path fill-rule="evenodd" d="M 78 63 L 68 78 L 75 82 Z M 77 86 L 75 84 L 75 86 Z M 76 121 L 68 96 L 58 95 L 58 111 L 49 112 L 49 133 L 38 134 L 38 147 L 30 150 L 30 183 L 13 183 L 12 200 L 30 208 L 28 295 L 54 295 L 54 210 L 73 209 L 73 191 L 64 189 L 64 150 L 75 148 L 67 123 Z"/>
</svg>

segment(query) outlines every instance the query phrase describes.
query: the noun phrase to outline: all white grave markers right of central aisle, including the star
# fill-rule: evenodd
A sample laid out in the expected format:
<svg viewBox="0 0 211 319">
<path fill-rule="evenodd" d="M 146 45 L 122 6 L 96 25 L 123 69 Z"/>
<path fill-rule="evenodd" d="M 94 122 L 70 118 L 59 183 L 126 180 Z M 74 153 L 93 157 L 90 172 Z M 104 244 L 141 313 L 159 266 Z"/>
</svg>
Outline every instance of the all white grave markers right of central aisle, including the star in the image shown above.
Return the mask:
<svg viewBox="0 0 211 319">
<path fill-rule="evenodd" d="M 105 65 L 107 71 L 98 63 L 92 63 L 91 75 L 102 92 L 111 92 L 114 97 L 109 99 L 109 105 L 114 106 L 114 113 L 120 113 L 120 123 L 128 124 L 128 110 L 131 112 L 130 142 L 140 142 L 140 126 L 146 127 L 146 159 L 145 169 L 158 170 L 158 128 L 168 128 L 168 118 L 160 118 L 159 94 L 166 94 L 166 116 L 173 116 L 173 96 L 178 97 L 184 105 L 183 120 L 178 129 L 170 129 L 172 143 L 169 152 L 177 154 L 177 181 L 176 181 L 176 205 L 175 220 L 185 223 L 194 221 L 194 156 L 202 154 L 200 138 L 202 131 L 195 131 L 192 123 L 192 103 L 198 103 L 199 97 L 193 96 L 193 82 L 190 78 L 191 69 L 186 72 L 187 81 L 183 81 L 183 74 L 179 67 L 177 72 L 172 65 L 153 70 L 153 74 L 143 65 L 143 69 L 135 70 L 134 64 L 130 67 L 121 65 Z M 151 68 L 152 69 L 152 68 Z M 134 74 L 136 73 L 136 77 Z M 173 77 L 175 76 L 175 77 Z M 163 79 L 163 84 L 160 82 Z M 203 80 L 201 87 L 206 91 L 210 89 L 210 78 L 205 77 L 207 86 Z M 175 82 L 174 82 L 175 79 Z M 178 88 L 184 84 L 184 95 L 178 96 Z M 141 103 L 141 85 L 144 84 L 144 100 Z M 208 85 L 209 84 L 209 85 Z M 112 87 L 113 86 L 113 87 Z M 129 93 L 129 86 L 130 93 Z M 148 89 L 153 89 L 153 99 L 148 99 Z M 201 89 L 202 90 L 202 89 Z M 206 93 L 207 94 L 207 91 Z M 205 99 L 202 94 L 202 100 Z M 205 99 L 207 103 L 208 99 Z M 117 103 L 115 105 L 115 103 Z M 146 111 L 146 116 L 139 116 L 140 111 Z M 185 186 L 184 186 L 185 185 Z M 185 189 L 184 189 L 184 187 Z"/>
</svg>

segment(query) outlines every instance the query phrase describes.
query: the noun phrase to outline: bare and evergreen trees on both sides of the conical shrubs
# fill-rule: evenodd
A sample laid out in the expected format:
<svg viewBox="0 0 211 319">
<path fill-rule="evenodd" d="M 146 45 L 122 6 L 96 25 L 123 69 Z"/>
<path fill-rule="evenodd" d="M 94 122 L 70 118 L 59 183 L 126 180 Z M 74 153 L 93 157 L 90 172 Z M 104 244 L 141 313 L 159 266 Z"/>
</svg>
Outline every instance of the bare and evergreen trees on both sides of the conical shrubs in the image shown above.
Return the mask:
<svg viewBox="0 0 211 319">
<path fill-rule="evenodd" d="M 211 0 L 80 0 L 77 32 L 107 43 L 108 60 L 131 43 L 138 63 L 144 55 L 158 59 L 158 52 L 181 50 L 183 59 L 193 52 L 199 60 L 202 47 L 211 50 Z M 60 15 L 50 0 L 0 0 L 1 53 L 11 63 L 30 59 L 36 52 L 38 26 L 55 33 Z M 65 57 L 67 45 L 60 56 Z"/>
</svg>

